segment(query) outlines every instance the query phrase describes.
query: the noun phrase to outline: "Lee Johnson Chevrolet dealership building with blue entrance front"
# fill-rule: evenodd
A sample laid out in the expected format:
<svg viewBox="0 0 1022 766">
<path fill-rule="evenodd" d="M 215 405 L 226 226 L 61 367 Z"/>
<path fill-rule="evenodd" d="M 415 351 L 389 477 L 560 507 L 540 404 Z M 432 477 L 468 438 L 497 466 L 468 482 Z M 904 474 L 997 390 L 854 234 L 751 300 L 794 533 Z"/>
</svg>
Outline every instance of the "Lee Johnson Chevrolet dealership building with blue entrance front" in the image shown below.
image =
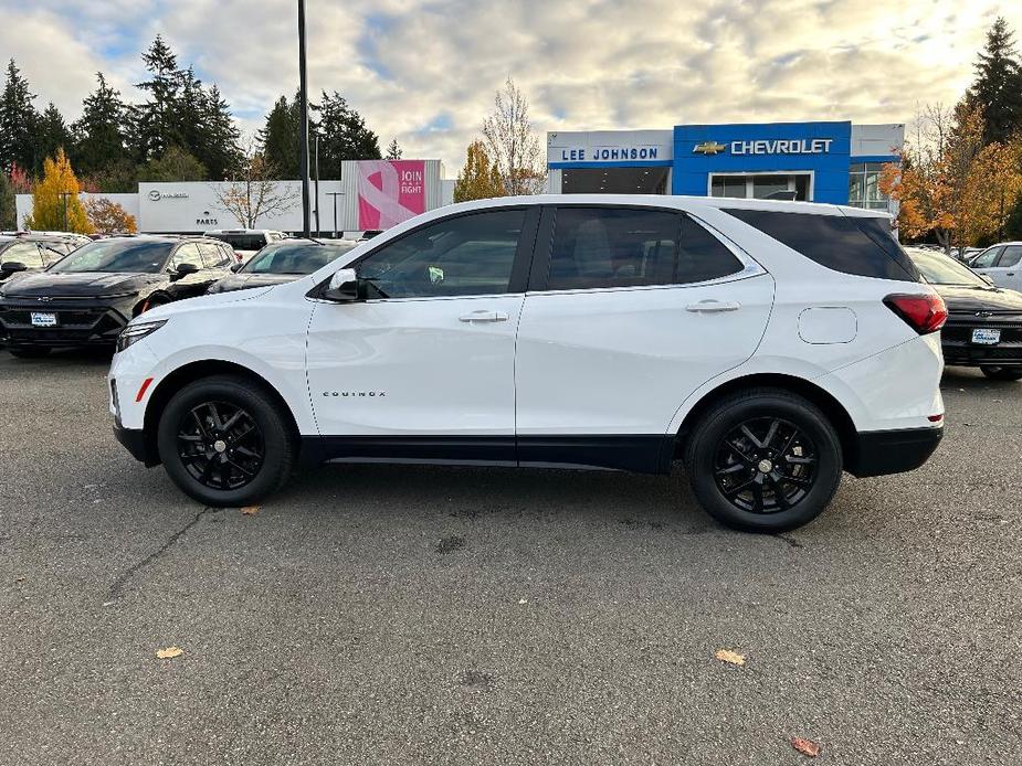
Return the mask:
<svg viewBox="0 0 1022 766">
<path fill-rule="evenodd" d="M 895 212 L 881 193 L 904 125 L 850 121 L 676 125 L 547 134 L 554 193 L 686 194 L 850 204 Z"/>
</svg>

